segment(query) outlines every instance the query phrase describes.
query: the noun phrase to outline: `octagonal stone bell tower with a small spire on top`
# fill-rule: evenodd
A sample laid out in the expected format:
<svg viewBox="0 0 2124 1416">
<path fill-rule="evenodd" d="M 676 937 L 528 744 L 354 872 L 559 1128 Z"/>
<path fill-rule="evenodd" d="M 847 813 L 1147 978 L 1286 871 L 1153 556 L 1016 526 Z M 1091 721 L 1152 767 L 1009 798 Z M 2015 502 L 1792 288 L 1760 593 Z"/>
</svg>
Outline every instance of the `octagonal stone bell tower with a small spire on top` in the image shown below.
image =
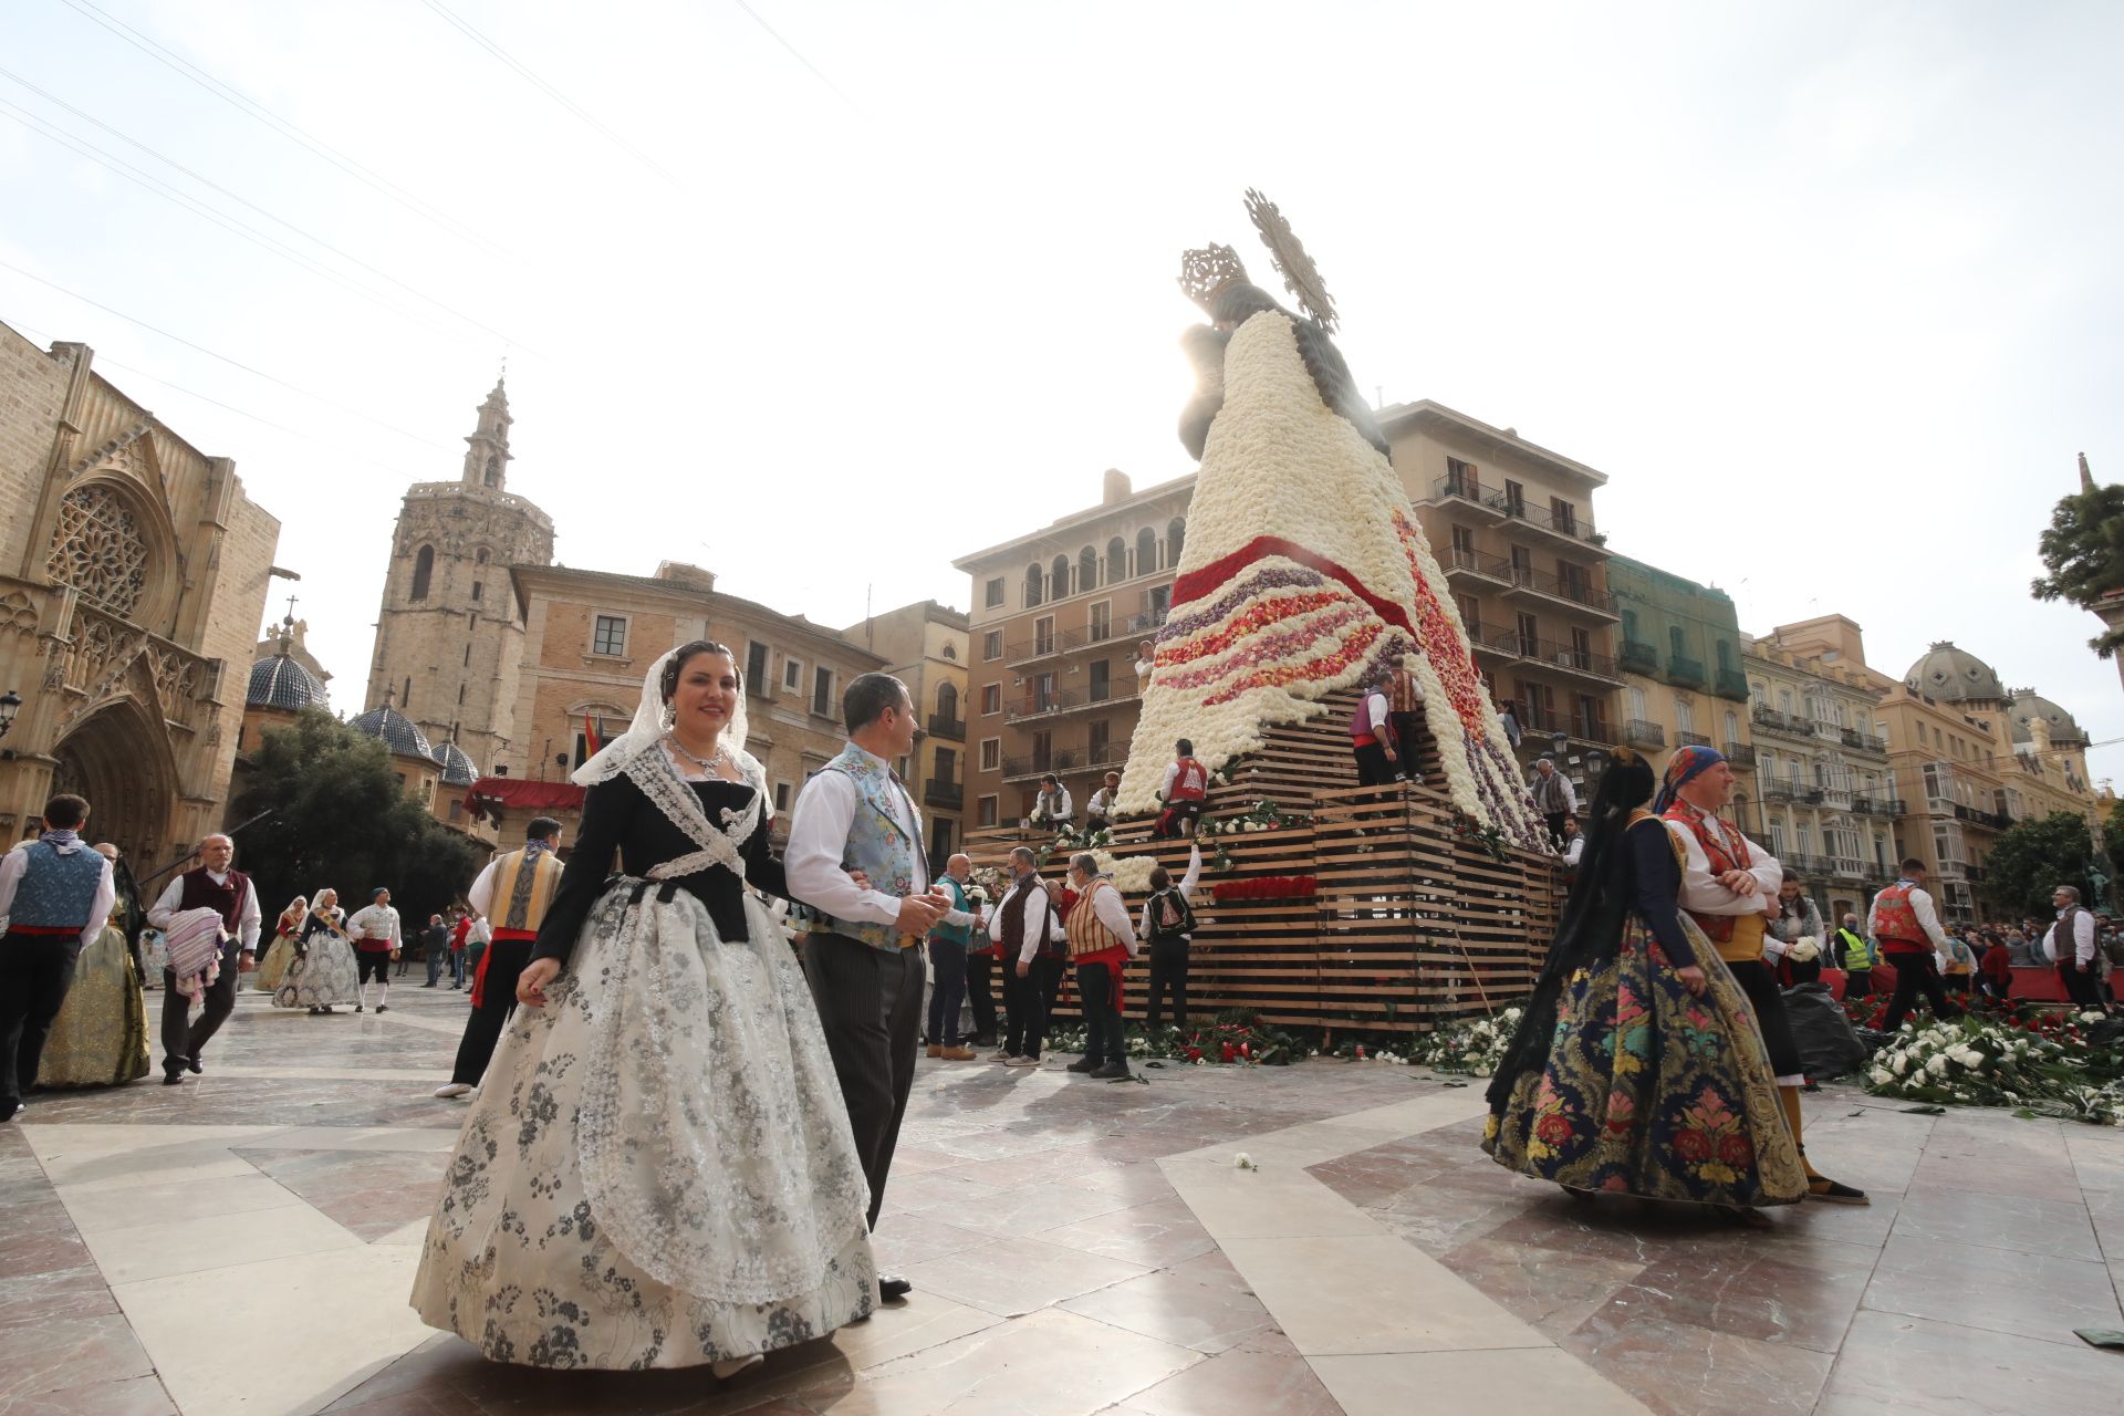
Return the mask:
<svg viewBox="0 0 2124 1416">
<path fill-rule="evenodd" d="M 552 565 L 552 518 L 508 490 L 512 425 L 501 378 L 465 437 L 459 480 L 406 488 L 361 703 L 393 703 L 476 773 L 525 769 L 514 754 L 525 624 L 510 567 Z"/>
</svg>

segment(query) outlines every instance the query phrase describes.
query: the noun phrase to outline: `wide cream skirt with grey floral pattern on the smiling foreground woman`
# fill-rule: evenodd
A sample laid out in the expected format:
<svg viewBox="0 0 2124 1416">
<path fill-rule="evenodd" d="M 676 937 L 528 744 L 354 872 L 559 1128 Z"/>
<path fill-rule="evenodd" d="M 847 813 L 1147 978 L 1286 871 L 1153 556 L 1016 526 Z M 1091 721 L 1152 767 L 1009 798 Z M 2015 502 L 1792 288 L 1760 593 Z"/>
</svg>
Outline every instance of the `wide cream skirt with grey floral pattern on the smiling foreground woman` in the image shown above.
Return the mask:
<svg viewBox="0 0 2124 1416">
<path fill-rule="evenodd" d="M 518 1008 L 429 1221 L 412 1306 L 493 1361 L 690 1367 L 877 1306 L 869 1187 L 809 989 L 746 898 L 618 881 Z"/>
</svg>

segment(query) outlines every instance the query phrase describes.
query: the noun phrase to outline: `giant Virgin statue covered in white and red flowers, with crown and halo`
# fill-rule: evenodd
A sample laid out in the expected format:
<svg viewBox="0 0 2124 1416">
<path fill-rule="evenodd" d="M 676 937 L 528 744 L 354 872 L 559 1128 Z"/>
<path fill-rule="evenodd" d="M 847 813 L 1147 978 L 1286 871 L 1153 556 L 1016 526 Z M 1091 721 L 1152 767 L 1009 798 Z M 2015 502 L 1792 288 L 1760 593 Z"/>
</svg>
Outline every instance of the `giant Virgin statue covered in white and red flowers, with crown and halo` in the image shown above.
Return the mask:
<svg viewBox="0 0 2124 1416">
<path fill-rule="evenodd" d="M 1453 805 L 1546 851 L 1444 571 L 1330 340 L 1334 301 L 1274 204 L 1249 191 L 1247 210 L 1311 318 L 1251 284 L 1230 246 L 1183 257 L 1181 289 L 1211 316 L 1185 335 L 1198 384 L 1181 442 L 1202 471 L 1121 809 L 1158 809 L 1177 739 L 1217 769 L 1330 692 L 1408 667 Z"/>
</svg>

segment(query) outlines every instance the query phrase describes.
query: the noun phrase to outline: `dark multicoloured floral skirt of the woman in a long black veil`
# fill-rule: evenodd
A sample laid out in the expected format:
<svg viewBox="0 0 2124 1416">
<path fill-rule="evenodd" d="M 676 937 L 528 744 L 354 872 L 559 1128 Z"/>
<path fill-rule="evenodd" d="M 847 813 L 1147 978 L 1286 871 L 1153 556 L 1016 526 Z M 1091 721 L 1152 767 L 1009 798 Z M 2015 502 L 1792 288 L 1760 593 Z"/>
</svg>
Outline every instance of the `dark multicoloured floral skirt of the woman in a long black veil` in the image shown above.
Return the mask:
<svg viewBox="0 0 2124 1416">
<path fill-rule="evenodd" d="M 1646 1199 L 1765 1206 L 1805 1193 L 1748 998 L 1682 923 L 1706 994 L 1693 998 L 1631 919 L 1614 960 L 1565 983 L 1546 1066 L 1491 1115 L 1483 1149 L 1500 1165 Z"/>
</svg>

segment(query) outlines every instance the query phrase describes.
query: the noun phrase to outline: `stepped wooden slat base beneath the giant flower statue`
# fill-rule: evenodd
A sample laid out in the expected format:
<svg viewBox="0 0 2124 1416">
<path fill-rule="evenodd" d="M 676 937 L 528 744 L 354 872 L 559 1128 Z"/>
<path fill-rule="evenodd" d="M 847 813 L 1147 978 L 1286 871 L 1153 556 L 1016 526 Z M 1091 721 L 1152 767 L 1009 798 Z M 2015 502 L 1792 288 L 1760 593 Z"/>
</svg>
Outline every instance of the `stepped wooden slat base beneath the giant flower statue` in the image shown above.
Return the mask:
<svg viewBox="0 0 2124 1416">
<path fill-rule="evenodd" d="M 1425 785 L 1359 788 L 1344 728 L 1353 707 L 1338 694 L 1319 718 L 1270 728 L 1266 747 L 1213 785 L 1209 817 L 1245 815 L 1266 798 L 1313 822 L 1204 841 L 1204 862 L 1223 845 L 1232 866 L 1206 866 L 1194 898 L 1192 1015 L 1255 1008 L 1277 1025 L 1427 1032 L 1531 987 L 1563 898 L 1557 860 L 1510 849 L 1500 862 L 1480 839 L 1459 834 L 1429 743 L 1417 756 Z M 1175 879 L 1187 868 L 1187 843 L 1151 841 L 1149 822 L 1113 834 L 1107 849 L 1117 858 L 1151 856 Z M 1047 843 L 988 830 L 966 839 L 966 853 L 1003 866 L 1013 845 Z M 1043 875 L 1060 879 L 1066 866 L 1054 851 Z M 1219 904 L 1209 890 L 1272 875 L 1313 875 L 1319 894 Z M 1128 972 L 1130 1017 L 1143 1015 L 1147 987 L 1145 955 Z M 1062 1011 L 1075 1015 L 1070 994 Z"/>
</svg>

